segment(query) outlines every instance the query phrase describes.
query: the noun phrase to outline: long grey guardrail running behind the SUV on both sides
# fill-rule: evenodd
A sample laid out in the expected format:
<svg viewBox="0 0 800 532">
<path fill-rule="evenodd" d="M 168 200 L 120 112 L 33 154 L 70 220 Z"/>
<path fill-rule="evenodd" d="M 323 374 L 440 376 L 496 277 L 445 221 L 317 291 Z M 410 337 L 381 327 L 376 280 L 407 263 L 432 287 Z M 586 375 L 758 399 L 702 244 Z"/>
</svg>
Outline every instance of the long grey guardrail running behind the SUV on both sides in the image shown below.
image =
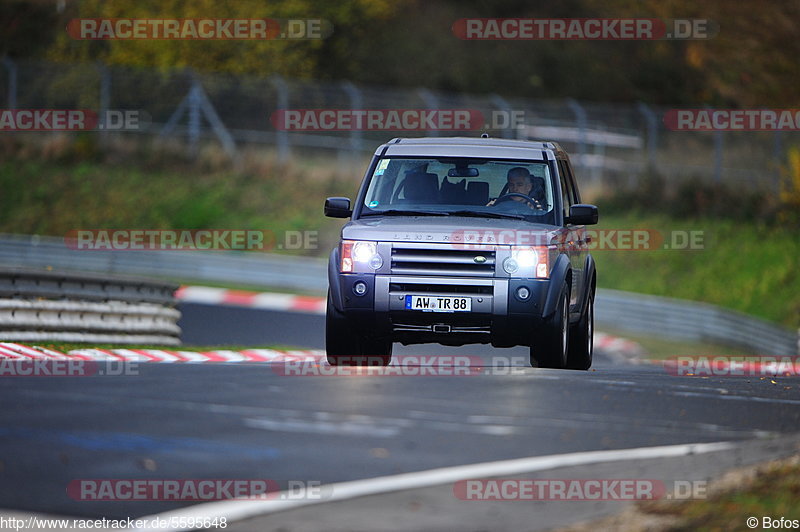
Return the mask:
<svg viewBox="0 0 800 532">
<path fill-rule="evenodd" d="M 324 259 L 233 251 L 77 251 L 54 237 L 0 235 L 0 264 L 224 282 L 325 292 Z M 600 325 L 670 339 L 705 341 L 764 355 L 800 355 L 800 336 L 765 320 L 706 303 L 598 290 Z"/>
</svg>

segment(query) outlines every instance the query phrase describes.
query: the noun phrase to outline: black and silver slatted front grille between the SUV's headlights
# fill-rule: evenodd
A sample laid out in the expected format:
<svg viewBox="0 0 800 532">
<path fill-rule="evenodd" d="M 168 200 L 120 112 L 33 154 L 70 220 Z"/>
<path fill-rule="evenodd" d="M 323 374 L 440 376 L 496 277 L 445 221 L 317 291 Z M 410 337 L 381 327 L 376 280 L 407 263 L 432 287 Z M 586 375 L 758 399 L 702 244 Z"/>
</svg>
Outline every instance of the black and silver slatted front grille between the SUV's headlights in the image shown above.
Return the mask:
<svg viewBox="0 0 800 532">
<path fill-rule="evenodd" d="M 492 277 L 494 269 L 493 249 L 392 248 L 393 274 Z"/>
</svg>

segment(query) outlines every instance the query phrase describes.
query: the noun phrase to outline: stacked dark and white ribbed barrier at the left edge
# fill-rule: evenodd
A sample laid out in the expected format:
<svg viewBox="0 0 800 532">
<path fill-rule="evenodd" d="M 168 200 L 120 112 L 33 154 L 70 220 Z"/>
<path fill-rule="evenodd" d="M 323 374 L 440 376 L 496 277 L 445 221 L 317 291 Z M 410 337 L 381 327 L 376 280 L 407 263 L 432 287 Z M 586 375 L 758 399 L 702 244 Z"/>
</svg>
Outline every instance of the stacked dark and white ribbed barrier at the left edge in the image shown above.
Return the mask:
<svg viewBox="0 0 800 532">
<path fill-rule="evenodd" d="M 96 274 L 0 269 L 0 339 L 180 343 L 176 284 Z"/>
</svg>

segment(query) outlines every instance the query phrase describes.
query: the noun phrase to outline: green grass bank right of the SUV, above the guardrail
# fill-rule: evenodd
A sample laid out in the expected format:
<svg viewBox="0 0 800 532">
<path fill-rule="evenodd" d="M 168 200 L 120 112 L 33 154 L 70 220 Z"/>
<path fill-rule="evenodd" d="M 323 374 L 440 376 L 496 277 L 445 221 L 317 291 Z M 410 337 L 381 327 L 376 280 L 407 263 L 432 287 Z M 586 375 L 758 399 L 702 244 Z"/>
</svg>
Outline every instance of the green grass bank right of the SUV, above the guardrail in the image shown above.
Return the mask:
<svg viewBox="0 0 800 532">
<path fill-rule="evenodd" d="M 666 216 L 601 215 L 598 230 L 702 231 L 695 250 L 595 250 L 597 284 L 705 301 L 788 327 L 800 326 L 800 236 L 777 226 Z"/>
</svg>

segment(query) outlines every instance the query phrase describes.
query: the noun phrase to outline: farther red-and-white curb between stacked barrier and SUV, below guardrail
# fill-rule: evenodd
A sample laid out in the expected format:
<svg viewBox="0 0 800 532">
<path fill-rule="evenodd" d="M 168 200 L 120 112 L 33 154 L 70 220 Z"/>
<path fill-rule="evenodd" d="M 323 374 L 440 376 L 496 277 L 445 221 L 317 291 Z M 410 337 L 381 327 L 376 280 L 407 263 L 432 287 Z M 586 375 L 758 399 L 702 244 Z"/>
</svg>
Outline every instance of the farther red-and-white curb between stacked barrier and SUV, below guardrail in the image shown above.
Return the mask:
<svg viewBox="0 0 800 532">
<path fill-rule="evenodd" d="M 178 301 L 205 303 L 208 305 L 234 305 L 237 307 L 260 308 L 302 312 L 305 314 L 325 314 L 324 297 L 276 294 L 272 292 L 244 292 L 208 286 L 182 286 L 175 292 Z"/>
</svg>

